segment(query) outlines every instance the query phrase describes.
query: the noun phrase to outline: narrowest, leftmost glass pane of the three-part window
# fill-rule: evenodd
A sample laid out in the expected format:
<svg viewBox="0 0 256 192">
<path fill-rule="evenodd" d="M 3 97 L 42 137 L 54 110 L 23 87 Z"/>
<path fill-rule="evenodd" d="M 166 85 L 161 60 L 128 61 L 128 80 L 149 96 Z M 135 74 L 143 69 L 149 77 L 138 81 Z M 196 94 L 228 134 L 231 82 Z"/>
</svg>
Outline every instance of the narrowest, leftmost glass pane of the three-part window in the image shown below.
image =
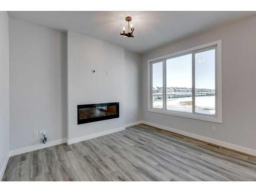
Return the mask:
<svg viewBox="0 0 256 192">
<path fill-rule="evenodd" d="M 163 62 L 152 65 L 153 108 L 163 109 Z"/>
</svg>

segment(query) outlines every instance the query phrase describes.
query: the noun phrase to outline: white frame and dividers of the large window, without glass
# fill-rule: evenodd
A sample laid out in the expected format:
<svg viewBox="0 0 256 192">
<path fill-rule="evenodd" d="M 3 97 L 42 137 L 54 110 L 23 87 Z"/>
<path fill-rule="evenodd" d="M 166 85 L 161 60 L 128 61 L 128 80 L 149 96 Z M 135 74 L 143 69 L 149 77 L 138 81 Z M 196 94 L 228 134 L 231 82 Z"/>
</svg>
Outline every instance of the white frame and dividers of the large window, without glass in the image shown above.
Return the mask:
<svg viewBox="0 0 256 192">
<path fill-rule="evenodd" d="M 200 113 L 195 113 L 194 111 L 192 113 L 189 112 L 179 112 L 179 111 L 171 111 L 171 110 L 166 110 L 166 85 L 165 85 L 165 78 L 166 78 L 166 69 L 163 69 L 163 109 L 157 109 L 153 108 L 152 106 L 152 64 L 156 62 L 163 61 L 163 64 L 166 59 L 172 58 L 172 57 L 177 57 L 181 55 L 186 55 L 189 53 L 195 53 L 197 51 L 201 52 L 204 49 L 207 50 L 209 48 L 215 47 L 216 49 L 216 70 L 215 70 L 215 101 L 216 101 L 216 113 L 215 115 L 207 115 L 207 114 L 200 114 Z M 163 65 L 164 67 L 166 65 Z M 163 67 L 163 68 L 164 68 Z M 193 71 L 195 70 L 195 63 L 193 59 Z M 194 72 L 193 72 L 194 74 Z M 192 78 L 192 83 L 193 83 L 193 89 L 195 94 L 195 77 L 193 76 Z M 193 96 L 193 99 L 195 99 L 195 96 Z M 195 104 L 195 101 L 193 100 L 193 104 Z M 187 50 L 179 51 L 176 53 L 164 55 L 161 57 L 157 57 L 154 59 L 147 60 L 147 111 L 148 112 L 154 112 L 154 113 L 161 113 L 161 114 L 166 114 L 166 115 L 174 115 L 174 116 L 179 116 L 179 117 L 186 117 L 186 118 L 191 118 L 191 119 L 199 119 L 199 120 L 204 120 L 204 121 L 211 121 L 211 122 L 218 122 L 222 123 L 222 42 L 221 40 L 217 40 L 214 42 L 209 42 L 208 44 L 204 44 L 201 46 L 193 47 Z"/>
</svg>

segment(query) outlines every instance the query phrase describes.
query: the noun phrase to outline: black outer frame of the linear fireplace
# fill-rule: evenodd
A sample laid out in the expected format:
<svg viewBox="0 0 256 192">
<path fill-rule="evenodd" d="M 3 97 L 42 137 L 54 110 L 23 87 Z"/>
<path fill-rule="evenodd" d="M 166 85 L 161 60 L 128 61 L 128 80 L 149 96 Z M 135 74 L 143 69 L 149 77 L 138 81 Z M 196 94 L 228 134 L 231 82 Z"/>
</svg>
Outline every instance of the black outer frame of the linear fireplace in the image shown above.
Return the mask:
<svg viewBox="0 0 256 192">
<path fill-rule="evenodd" d="M 106 116 L 101 116 L 101 117 L 92 117 L 92 118 L 88 118 L 88 119 L 79 119 L 79 109 L 96 108 L 96 106 L 113 106 L 113 105 L 116 106 L 116 113 L 117 114 L 106 115 Z M 119 118 L 119 102 L 77 105 L 77 124 L 90 123 L 90 122 L 102 121 L 102 120 L 114 119 L 114 118 Z"/>
</svg>

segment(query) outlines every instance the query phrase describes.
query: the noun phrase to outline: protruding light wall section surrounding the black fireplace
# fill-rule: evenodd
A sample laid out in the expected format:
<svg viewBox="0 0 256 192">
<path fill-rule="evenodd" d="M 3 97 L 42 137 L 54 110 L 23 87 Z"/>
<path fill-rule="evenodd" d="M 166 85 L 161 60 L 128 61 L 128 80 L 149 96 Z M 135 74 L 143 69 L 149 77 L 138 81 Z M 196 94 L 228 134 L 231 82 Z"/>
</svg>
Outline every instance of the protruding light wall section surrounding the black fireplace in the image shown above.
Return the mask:
<svg viewBox="0 0 256 192">
<path fill-rule="evenodd" d="M 124 126 L 124 77 L 122 47 L 68 32 L 69 140 Z M 78 104 L 105 102 L 120 102 L 119 118 L 77 125 Z"/>
</svg>

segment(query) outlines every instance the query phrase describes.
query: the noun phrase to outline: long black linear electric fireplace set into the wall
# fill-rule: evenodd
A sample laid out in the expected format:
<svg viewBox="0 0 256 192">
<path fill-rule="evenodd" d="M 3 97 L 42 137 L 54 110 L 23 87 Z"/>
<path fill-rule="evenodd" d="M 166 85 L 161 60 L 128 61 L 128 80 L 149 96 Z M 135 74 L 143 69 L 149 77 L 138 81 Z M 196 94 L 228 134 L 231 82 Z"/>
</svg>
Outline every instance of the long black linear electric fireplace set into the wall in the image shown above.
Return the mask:
<svg viewBox="0 0 256 192">
<path fill-rule="evenodd" d="M 119 118 L 119 102 L 77 105 L 77 124 Z"/>
</svg>

